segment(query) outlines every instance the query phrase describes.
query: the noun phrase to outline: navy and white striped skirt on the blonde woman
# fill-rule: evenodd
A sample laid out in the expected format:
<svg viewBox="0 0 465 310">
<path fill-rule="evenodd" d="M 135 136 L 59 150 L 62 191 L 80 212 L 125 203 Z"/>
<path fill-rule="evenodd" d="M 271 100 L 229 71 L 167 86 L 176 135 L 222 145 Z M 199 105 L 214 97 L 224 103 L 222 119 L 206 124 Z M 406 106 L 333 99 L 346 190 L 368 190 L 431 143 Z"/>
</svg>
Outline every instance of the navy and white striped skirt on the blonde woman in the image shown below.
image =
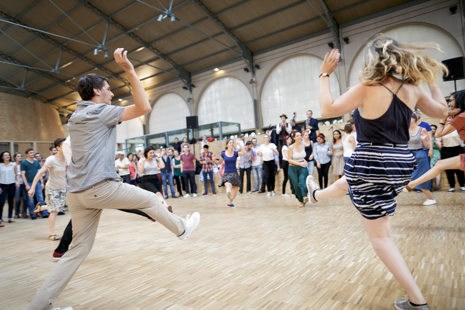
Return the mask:
<svg viewBox="0 0 465 310">
<path fill-rule="evenodd" d="M 352 203 L 368 219 L 394 215 L 414 167 L 407 145 L 359 143 L 344 167 Z"/>
</svg>

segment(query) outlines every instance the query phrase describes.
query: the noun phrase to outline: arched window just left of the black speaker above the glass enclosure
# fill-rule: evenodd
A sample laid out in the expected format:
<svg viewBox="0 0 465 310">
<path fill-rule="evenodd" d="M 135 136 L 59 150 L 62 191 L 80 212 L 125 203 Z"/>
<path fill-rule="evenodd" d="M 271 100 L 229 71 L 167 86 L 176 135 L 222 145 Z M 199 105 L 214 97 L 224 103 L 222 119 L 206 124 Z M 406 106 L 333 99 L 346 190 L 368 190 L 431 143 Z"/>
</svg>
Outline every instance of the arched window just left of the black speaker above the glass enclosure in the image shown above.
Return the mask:
<svg viewBox="0 0 465 310">
<path fill-rule="evenodd" d="M 186 116 L 190 116 L 186 101 L 177 93 L 161 96 L 150 112 L 150 133 L 166 132 L 186 128 Z"/>
</svg>

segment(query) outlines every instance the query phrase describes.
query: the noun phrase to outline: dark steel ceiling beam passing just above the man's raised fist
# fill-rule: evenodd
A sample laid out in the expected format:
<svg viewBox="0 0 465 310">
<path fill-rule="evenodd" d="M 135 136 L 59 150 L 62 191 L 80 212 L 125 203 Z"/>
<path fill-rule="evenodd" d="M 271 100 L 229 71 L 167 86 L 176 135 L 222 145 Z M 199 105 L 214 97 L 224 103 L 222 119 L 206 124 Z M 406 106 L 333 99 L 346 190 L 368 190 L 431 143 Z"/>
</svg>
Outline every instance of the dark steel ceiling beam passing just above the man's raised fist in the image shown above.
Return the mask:
<svg viewBox="0 0 465 310">
<path fill-rule="evenodd" d="M 174 74 L 177 78 L 179 78 L 184 85 L 191 90 L 191 73 L 187 70 L 183 69 L 179 64 L 177 64 L 173 59 L 166 56 L 164 53 L 153 47 L 150 43 L 146 42 L 142 38 L 140 38 L 137 34 L 133 33 L 125 26 L 121 25 L 116 20 L 113 20 L 109 15 L 106 15 L 102 12 L 99 8 L 90 4 L 87 0 L 76 0 L 81 6 L 86 7 L 89 11 L 93 12 L 94 14 L 98 15 L 101 19 L 106 20 L 107 23 L 115 27 L 116 29 L 120 30 L 122 33 L 125 33 L 128 37 L 139 43 L 141 46 L 146 47 L 150 52 L 157 55 L 160 59 L 165 60 L 172 68 L 177 72 Z M 104 46 L 103 46 L 104 47 Z"/>
</svg>

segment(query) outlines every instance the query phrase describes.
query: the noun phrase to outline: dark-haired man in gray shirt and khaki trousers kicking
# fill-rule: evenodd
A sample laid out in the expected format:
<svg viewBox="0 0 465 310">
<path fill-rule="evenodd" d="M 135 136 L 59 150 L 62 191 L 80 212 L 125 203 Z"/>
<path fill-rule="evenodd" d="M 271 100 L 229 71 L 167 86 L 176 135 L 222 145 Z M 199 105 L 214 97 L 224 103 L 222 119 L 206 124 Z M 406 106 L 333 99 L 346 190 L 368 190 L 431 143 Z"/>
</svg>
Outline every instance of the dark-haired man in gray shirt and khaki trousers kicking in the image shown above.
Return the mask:
<svg viewBox="0 0 465 310">
<path fill-rule="evenodd" d="M 114 170 L 116 125 L 152 110 L 140 79 L 127 59 L 127 51 L 123 51 L 124 48 L 116 49 L 114 58 L 131 82 L 134 105 L 112 106 L 113 93 L 104 77 L 88 74 L 79 80 L 78 91 L 83 101 L 77 102 L 76 111 L 67 124 L 72 161 L 67 170 L 66 191 L 73 222 L 73 246 L 55 265 L 34 296 L 29 310 L 53 308 L 53 300 L 64 290 L 92 249 L 102 209 L 138 209 L 181 240 L 199 224 L 198 212 L 184 220 L 170 213 L 154 193 L 123 183 Z"/>
</svg>

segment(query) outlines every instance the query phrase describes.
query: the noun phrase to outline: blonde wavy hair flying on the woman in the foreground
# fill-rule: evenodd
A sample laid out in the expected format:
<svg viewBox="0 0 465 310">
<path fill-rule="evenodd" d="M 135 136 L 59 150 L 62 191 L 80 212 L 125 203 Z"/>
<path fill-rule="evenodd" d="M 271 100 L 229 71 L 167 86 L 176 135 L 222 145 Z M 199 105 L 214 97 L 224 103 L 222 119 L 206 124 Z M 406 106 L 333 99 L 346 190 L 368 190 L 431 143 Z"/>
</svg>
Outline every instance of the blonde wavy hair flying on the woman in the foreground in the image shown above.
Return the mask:
<svg viewBox="0 0 465 310">
<path fill-rule="evenodd" d="M 447 67 L 422 50 L 434 48 L 442 52 L 436 43 L 400 43 L 383 34 L 377 35 L 366 46 L 363 71 L 359 80 L 369 85 L 383 81 L 388 75 L 396 75 L 413 85 L 421 82 L 437 86 Z M 439 75 L 440 73 L 440 75 Z"/>
</svg>

